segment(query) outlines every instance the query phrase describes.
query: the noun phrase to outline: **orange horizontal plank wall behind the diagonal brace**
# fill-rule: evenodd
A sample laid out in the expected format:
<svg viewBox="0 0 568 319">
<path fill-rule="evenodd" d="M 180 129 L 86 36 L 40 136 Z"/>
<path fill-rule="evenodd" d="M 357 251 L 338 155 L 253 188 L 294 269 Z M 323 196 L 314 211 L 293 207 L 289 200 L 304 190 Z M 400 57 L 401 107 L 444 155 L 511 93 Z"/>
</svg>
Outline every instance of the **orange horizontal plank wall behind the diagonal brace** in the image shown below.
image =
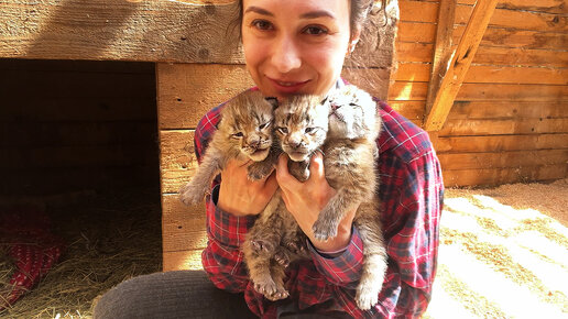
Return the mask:
<svg viewBox="0 0 568 319">
<path fill-rule="evenodd" d="M 458 1 L 454 45 L 473 3 Z M 400 9 L 389 102 L 422 124 L 438 3 L 402 0 Z M 447 186 L 568 176 L 567 13 L 565 1 L 498 3 L 448 120 L 433 134 Z"/>
</svg>

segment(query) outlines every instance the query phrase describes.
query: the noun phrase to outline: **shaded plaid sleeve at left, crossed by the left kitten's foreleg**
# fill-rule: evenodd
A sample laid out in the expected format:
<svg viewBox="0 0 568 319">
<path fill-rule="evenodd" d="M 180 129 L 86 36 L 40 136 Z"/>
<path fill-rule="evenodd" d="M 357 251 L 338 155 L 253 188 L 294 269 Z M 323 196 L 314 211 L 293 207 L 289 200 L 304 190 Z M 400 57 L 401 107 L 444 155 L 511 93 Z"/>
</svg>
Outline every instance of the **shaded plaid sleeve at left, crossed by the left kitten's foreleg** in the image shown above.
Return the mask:
<svg viewBox="0 0 568 319">
<path fill-rule="evenodd" d="M 201 161 L 212 133 L 217 130 L 222 106 L 210 110 L 197 124 L 194 142 L 198 162 Z M 208 242 L 201 253 L 201 263 L 218 288 L 234 293 L 243 292 L 249 276 L 239 248 L 254 223 L 255 217 L 236 217 L 220 210 L 216 205 L 219 184 L 218 176 L 211 185 L 211 196 L 206 199 Z"/>
</svg>

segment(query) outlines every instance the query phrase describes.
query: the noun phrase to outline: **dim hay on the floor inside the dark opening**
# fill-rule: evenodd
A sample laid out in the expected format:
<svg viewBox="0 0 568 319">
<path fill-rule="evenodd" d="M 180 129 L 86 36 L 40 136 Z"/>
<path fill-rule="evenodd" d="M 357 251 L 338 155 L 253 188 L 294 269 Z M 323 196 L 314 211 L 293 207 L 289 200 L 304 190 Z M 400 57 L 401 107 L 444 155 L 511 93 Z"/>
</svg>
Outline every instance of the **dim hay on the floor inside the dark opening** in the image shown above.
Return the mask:
<svg viewBox="0 0 568 319">
<path fill-rule="evenodd" d="M 98 295 L 132 276 L 161 271 L 157 189 L 102 194 L 47 211 L 67 249 L 41 283 L 0 317 L 90 318 Z M 0 286 L 13 266 L 2 255 Z"/>
</svg>

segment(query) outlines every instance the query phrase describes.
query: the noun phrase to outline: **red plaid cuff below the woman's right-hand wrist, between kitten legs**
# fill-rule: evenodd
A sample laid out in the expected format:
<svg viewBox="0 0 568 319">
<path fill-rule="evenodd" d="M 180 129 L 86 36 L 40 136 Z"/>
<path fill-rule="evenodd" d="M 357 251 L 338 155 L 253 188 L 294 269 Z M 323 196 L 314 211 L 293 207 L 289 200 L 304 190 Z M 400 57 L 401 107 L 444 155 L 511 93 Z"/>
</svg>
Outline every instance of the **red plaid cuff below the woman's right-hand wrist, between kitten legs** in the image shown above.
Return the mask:
<svg viewBox="0 0 568 319">
<path fill-rule="evenodd" d="M 320 254 L 309 241 L 308 248 L 316 268 L 328 282 L 347 288 L 357 287 L 357 283 L 361 278 L 363 243 L 359 231 L 354 227 L 352 228 L 351 241 L 338 256 L 329 257 Z"/>
</svg>

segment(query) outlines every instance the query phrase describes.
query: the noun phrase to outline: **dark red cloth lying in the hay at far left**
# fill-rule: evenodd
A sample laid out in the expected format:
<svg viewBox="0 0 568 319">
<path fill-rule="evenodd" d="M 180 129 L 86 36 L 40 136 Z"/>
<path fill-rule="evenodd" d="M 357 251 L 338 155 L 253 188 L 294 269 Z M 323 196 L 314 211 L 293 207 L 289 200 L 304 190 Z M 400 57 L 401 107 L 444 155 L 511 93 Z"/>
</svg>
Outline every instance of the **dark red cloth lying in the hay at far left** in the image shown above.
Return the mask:
<svg viewBox="0 0 568 319">
<path fill-rule="evenodd" d="M 11 207 L 0 212 L 0 239 L 15 263 L 11 293 L 0 297 L 0 310 L 30 292 L 57 262 L 65 248 L 50 231 L 47 215 L 35 207 Z"/>
</svg>

